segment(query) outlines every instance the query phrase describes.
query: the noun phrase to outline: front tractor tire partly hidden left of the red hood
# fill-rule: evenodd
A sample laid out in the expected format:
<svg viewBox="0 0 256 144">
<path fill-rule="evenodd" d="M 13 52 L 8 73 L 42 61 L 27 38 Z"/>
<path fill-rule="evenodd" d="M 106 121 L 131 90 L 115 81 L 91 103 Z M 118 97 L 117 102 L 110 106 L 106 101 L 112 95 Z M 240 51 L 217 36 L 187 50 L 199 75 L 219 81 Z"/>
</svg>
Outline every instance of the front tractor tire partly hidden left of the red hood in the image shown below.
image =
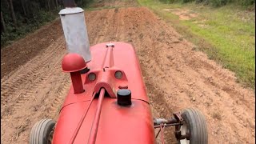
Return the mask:
<svg viewBox="0 0 256 144">
<path fill-rule="evenodd" d="M 35 123 L 30 131 L 30 144 L 51 144 L 55 123 L 52 119 Z"/>
</svg>

